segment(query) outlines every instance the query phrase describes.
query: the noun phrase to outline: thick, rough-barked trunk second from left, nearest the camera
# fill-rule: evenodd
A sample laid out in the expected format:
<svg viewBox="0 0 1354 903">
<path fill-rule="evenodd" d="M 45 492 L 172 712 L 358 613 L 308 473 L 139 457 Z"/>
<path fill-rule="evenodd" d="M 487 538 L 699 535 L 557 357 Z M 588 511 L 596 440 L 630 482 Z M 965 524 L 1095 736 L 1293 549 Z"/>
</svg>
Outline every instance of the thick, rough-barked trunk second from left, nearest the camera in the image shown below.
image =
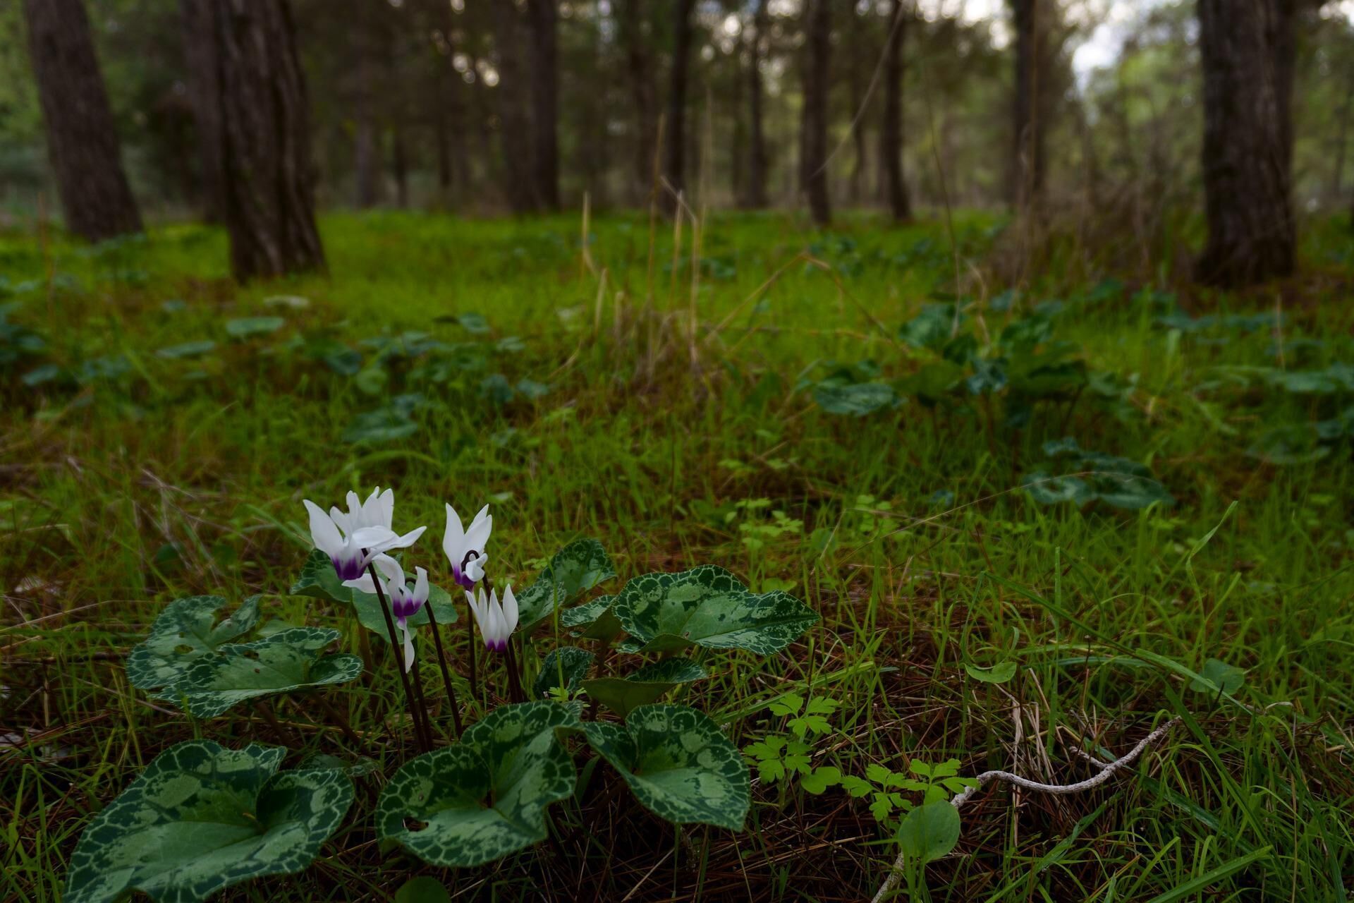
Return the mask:
<svg viewBox="0 0 1354 903">
<path fill-rule="evenodd" d="M 244 282 L 322 269 L 306 83 L 286 0 L 214 0 L 222 200 Z"/>
</svg>

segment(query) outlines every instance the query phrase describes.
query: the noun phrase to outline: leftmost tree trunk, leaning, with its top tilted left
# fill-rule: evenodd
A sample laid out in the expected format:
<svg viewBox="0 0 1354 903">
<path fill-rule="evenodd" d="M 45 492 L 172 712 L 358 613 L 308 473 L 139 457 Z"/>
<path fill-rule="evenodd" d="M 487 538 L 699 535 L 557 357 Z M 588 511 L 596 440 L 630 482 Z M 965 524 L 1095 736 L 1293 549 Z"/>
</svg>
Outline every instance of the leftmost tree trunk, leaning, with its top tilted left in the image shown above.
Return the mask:
<svg viewBox="0 0 1354 903">
<path fill-rule="evenodd" d="M 23 11 L 66 229 L 89 241 L 141 232 L 83 0 L 24 0 Z"/>
</svg>

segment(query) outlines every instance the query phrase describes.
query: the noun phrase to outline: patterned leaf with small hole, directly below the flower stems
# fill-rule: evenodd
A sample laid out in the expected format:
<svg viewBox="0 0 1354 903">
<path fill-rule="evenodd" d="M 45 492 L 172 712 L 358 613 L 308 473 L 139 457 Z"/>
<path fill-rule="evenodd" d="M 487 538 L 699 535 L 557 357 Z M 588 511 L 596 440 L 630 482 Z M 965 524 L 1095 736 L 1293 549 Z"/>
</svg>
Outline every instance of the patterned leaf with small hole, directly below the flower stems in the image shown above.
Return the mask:
<svg viewBox="0 0 1354 903">
<path fill-rule="evenodd" d="M 395 772 L 376 801 L 378 835 L 444 868 L 483 865 L 546 839 L 546 807 L 577 780 L 556 731 L 578 724 L 571 705 L 551 701 L 494 709 L 459 743 Z"/>
</svg>

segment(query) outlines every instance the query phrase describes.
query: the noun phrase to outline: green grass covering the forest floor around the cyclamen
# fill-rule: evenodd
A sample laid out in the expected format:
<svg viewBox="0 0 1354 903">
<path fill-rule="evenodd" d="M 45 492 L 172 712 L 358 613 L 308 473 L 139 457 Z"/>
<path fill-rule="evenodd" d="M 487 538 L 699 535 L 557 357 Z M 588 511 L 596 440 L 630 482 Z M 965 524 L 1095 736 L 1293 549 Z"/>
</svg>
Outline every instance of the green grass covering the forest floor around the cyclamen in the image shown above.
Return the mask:
<svg viewBox="0 0 1354 903">
<path fill-rule="evenodd" d="M 997 226 L 978 214 L 956 226 L 961 290 L 992 336 L 1014 315 L 983 269 Z M 466 512 L 492 498 L 500 581 L 527 581 L 531 562 L 596 536 L 621 578 L 708 562 L 754 589 L 792 583 L 823 623 L 779 657 L 709 657 L 716 677 L 682 700 L 728 720 L 739 746 L 781 728 L 761 703 L 807 682 L 844 703 L 815 764 L 857 776 L 872 762 L 904 772 L 914 757 L 957 757 L 963 774 L 1071 783 L 1093 769 L 1070 747 L 1118 755 L 1183 718 L 1095 791 L 984 788 L 961 811 L 956 853 L 926 871 L 933 900 L 1347 899 L 1350 444 L 1286 466 L 1247 449 L 1274 425 L 1351 402 L 1243 380 L 1246 367 L 1350 360 L 1347 240 L 1334 225 L 1309 241 L 1319 276 L 1278 302 L 1186 299 L 1217 313 L 1278 303 L 1282 359 L 1269 329 L 1173 333 L 1155 322 L 1169 302 L 1139 286 L 1095 301 L 1089 284 L 1043 275 L 1020 303 L 1063 299 L 1057 338 L 1079 345 L 1102 384 L 1117 376 L 1118 394 L 1040 405 L 1021 429 L 980 405 L 932 412 L 911 399 L 854 418 L 814 403 L 823 361 L 873 360 L 895 378 L 932 359 L 896 330 L 932 292 L 955 291 L 942 222 L 886 229 L 858 217 L 814 236 L 783 215 L 719 215 L 695 290 L 691 233 L 674 257 L 672 226 L 659 223 L 653 245 L 649 229 L 639 215 L 604 217 L 585 260 L 570 217 L 330 215 L 328 278 L 245 288 L 226 279 L 223 236 L 198 226 L 99 253 L 0 237 L 9 320 L 49 344 L 0 368 L 0 899 L 60 899 L 84 824 L 176 741 L 288 739 L 288 762 L 360 753 L 387 776 L 412 754 L 409 736 L 391 743 L 382 727 L 399 704 L 387 667 L 328 695 L 370 732 L 364 749 L 290 701 L 278 703 L 288 738 L 248 708 L 192 723 L 152 705 L 122 670 L 158 609 L 195 593 L 267 593 L 269 615 L 338 627 L 355 647 L 340 612 L 279 593 L 306 554 L 301 500 L 378 483 L 395 487 L 397 527 L 431 525 L 414 551 L 435 579 L 443 501 Z M 309 305 L 268 306 L 275 295 Z M 467 313 L 492 332 L 451 320 Z M 253 315 L 286 322 L 226 334 L 226 321 Z M 417 359 L 383 376 L 322 360 L 341 343 L 370 363 L 364 340 L 409 332 L 466 343 L 486 363 L 439 380 Z M 520 347 L 502 341 L 512 336 Z M 200 340 L 215 343 L 200 359 L 156 353 Z M 97 376 L 108 359 L 125 364 Z M 42 363 L 76 376 L 23 384 Z M 498 372 L 548 391 L 496 403 L 483 379 Z M 401 393 L 424 395 L 412 435 L 345 441 L 355 417 Z M 1148 464 L 1175 506 L 1036 504 L 1020 478 L 1063 435 Z M 777 510 L 799 529 L 766 529 Z M 463 673 L 466 634 L 447 636 Z M 539 654 L 551 647 L 536 640 Z M 1186 670 L 1208 658 L 1247 669 L 1235 697 L 1189 689 Z M 1005 685 L 965 670 L 1006 659 L 1020 670 Z M 440 700 L 436 669 L 424 680 Z M 558 807 L 552 842 L 440 873 L 380 853 L 379 784 L 363 780 L 310 871 L 222 899 L 389 899 L 417 873 L 485 899 L 862 899 L 894 857 L 868 800 L 838 788 L 754 783 L 745 833 L 674 833 L 609 792 L 616 781 L 598 769 L 581 800 Z"/>
</svg>

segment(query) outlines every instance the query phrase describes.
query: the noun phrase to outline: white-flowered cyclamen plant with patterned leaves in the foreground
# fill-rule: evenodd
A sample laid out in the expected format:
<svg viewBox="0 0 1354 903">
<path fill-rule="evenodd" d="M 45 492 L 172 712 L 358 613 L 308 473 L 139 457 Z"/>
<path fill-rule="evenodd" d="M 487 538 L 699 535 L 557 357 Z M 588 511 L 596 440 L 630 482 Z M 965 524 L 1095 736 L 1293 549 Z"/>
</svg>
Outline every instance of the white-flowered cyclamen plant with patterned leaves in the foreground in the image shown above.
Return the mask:
<svg viewBox="0 0 1354 903">
<path fill-rule="evenodd" d="M 741 753 L 707 715 L 662 699 L 677 688 L 689 697 L 692 685 L 708 677 L 709 654 L 783 651 L 818 621 L 807 605 L 780 590 L 753 593 L 712 565 L 635 577 L 615 594 L 585 601 L 616 578 L 594 539 L 556 552 L 529 586 L 500 589 L 487 569 L 487 506 L 464 528 L 447 505 L 444 574 L 466 597 L 466 628 L 478 630 L 485 646 L 483 676 L 502 666 L 510 700 L 489 705 L 493 695 L 479 682 L 471 634 L 470 704 L 463 709 L 455 685 L 467 678 L 441 638 L 441 628 L 458 620 L 451 597 L 432 583 L 428 569 L 397 558 L 412 552 L 425 528 L 394 529 L 389 489 L 366 501 L 349 493 L 347 504 L 347 512 L 336 506 L 325 513 L 305 501 L 314 550 L 290 593 L 328 600 L 351 612 L 359 631 L 390 643 L 390 666 L 405 689 L 421 753 L 380 791 L 374 816 L 383 849 L 462 868 L 532 846 L 546 839 L 546 808 L 577 796 L 575 758 L 589 749 L 655 815 L 676 824 L 742 829 L 750 778 Z M 378 742 L 352 731 L 325 696 L 364 667 L 356 655 L 324 651 L 338 631 L 291 627 L 245 642 L 259 627 L 260 598 L 217 623 L 222 605 L 218 597 L 171 602 L 127 659 L 133 685 L 192 718 L 217 718 L 248 701 L 274 723 L 269 696 L 305 693 L 349 741 Z M 540 650 L 533 634 L 543 625 L 550 631 L 539 631 L 542 639 L 547 632 L 571 634 L 607 654 L 580 646 Z M 418 676 L 422 627 L 441 670 L 443 711 L 454 724 L 450 741 L 439 735 L 425 705 Z M 366 655 L 364 639 L 362 647 Z M 697 655 L 685 658 L 689 650 Z M 620 662 L 650 655 L 661 658 L 628 674 L 616 671 Z M 598 662 L 611 673 L 593 677 Z M 535 673 L 529 684 L 527 667 Z M 581 696 L 592 703 L 586 718 Z M 462 716 L 479 711 L 483 715 L 462 730 Z M 603 711 L 611 715 L 600 716 Z M 200 900 L 249 877 L 301 871 L 347 818 L 356 797 L 352 780 L 366 772 L 325 757 L 279 770 L 286 754 L 286 747 L 250 743 L 232 750 L 211 741 L 169 747 L 81 835 L 65 899 L 115 900 L 139 889 L 160 900 Z M 204 846 L 204 837 L 221 839 Z"/>
</svg>

